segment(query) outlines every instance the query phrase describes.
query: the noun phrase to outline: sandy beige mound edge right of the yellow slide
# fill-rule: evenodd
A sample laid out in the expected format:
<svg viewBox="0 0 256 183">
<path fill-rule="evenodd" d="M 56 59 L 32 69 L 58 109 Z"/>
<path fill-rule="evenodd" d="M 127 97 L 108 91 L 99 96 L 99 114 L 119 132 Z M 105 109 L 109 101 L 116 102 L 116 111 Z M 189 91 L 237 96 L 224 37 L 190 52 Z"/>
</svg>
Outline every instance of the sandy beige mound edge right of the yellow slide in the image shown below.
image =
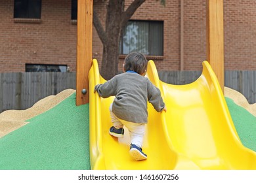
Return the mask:
<svg viewBox="0 0 256 183">
<path fill-rule="evenodd" d="M 232 90 L 231 88 L 224 87 L 224 95 L 234 101 L 240 107 L 248 110 L 253 116 L 256 116 L 256 103 L 249 104 L 244 95 L 236 90 Z"/>
</svg>

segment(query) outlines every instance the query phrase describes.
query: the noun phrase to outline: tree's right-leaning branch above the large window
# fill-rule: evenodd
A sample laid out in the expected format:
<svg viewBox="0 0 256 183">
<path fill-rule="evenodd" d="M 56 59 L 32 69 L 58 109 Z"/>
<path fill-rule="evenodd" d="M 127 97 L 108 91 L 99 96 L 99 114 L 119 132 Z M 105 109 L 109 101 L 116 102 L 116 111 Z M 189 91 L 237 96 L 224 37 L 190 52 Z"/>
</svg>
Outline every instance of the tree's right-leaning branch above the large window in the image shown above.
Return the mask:
<svg viewBox="0 0 256 183">
<path fill-rule="evenodd" d="M 131 16 L 133 16 L 133 14 L 137 10 L 137 8 L 139 8 L 140 5 L 142 5 L 142 3 L 144 3 L 144 1 L 146 1 L 146 0 L 133 1 L 133 3 L 131 3 L 131 5 L 127 8 L 127 10 L 125 10 L 125 12 L 123 12 L 122 18 L 121 18 L 122 19 L 121 27 L 124 27 L 127 24 L 128 20 L 130 20 Z"/>
</svg>

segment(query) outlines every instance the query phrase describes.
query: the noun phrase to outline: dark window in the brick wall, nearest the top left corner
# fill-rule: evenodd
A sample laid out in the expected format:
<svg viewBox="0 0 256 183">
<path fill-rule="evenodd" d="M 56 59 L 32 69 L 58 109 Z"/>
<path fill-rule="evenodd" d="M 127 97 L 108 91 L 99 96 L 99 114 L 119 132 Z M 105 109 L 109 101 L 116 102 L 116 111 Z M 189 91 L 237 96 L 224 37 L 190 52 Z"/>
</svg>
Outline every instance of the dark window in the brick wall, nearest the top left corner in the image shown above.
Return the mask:
<svg viewBox="0 0 256 183">
<path fill-rule="evenodd" d="M 41 18 L 41 0 L 14 0 L 14 18 Z"/>
</svg>

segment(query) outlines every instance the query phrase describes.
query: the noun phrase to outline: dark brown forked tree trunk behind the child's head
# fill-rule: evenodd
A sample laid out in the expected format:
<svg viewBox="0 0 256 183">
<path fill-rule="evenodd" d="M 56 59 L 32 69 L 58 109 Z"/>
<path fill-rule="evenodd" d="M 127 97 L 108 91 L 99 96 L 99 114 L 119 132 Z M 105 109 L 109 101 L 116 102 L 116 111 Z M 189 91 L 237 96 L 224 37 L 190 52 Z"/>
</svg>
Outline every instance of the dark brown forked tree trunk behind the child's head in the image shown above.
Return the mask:
<svg viewBox="0 0 256 183">
<path fill-rule="evenodd" d="M 129 7 L 125 8 L 125 0 L 109 0 L 106 14 L 105 30 L 93 11 L 93 24 L 103 44 L 102 67 L 100 74 L 109 80 L 118 73 L 119 62 L 119 40 L 123 28 L 133 16 L 137 8 L 146 0 L 134 0 Z"/>
</svg>

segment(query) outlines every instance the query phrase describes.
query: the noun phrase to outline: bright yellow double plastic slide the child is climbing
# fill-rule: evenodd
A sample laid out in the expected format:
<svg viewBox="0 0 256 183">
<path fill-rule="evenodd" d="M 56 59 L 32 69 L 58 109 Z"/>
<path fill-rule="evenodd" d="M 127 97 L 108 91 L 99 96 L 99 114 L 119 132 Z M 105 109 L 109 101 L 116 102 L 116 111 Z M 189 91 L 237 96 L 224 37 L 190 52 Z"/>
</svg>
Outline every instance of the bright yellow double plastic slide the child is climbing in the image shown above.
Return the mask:
<svg viewBox="0 0 256 183">
<path fill-rule="evenodd" d="M 226 101 L 209 63 L 191 84 L 161 82 L 153 61 L 146 75 L 161 90 L 167 112 L 156 112 L 148 104 L 148 124 L 142 146 L 148 159 L 129 156 L 129 132 L 117 139 L 108 108 L 113 97 L 100 98 L 96 84 L 106 82 L 93 59 L 89 72 L 89 118 L 91 169 L 256 169 L 256 153 L 245 148 L 236 133 Z"/>
</svg>

